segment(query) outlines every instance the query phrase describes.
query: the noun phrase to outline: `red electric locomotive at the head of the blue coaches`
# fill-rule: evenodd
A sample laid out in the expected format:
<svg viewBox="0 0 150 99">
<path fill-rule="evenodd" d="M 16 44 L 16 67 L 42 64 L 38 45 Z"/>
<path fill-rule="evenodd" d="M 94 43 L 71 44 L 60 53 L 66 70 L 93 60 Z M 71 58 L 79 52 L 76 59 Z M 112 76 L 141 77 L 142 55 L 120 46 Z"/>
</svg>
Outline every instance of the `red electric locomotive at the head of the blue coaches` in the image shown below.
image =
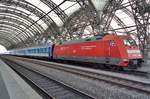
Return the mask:
<svg viewBox="0 0 150 99">
<path fill-rule="evenodd" d="M 143 60 L 141 51 L 130 36 L 115 34 L 55 45 L 53 58 L 119 68 L 137 68 Z"/>
</svg>

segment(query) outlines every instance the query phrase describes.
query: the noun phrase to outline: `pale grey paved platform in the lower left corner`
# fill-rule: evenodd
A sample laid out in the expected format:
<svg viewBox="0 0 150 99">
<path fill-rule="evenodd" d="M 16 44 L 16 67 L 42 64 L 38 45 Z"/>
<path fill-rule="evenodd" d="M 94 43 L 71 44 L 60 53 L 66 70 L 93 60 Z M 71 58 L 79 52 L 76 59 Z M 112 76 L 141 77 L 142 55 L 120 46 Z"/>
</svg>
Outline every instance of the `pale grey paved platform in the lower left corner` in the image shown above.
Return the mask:
<svg viewBox="0 0 150 99">
<path fill-rule="evenodd" d="M 42 99 L 42 97 L 0 60 L 0 99 Z"/>
</svg>

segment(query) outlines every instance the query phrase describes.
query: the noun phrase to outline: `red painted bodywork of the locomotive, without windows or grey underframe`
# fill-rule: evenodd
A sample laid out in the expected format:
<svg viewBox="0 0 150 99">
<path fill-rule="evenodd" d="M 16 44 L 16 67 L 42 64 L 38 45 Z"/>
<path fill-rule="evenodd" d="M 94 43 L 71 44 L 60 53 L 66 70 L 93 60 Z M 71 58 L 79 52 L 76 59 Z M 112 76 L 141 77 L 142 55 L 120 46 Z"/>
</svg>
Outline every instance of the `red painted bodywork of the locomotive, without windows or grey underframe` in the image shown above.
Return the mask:
<svg viewBox="0 0 150 99">
<path fill-rule="evenodd" d="M 90 42 L 81 42 L 76 44 L 55 45 L 53 56 L 78 56 L 78 57 L 100 57 L 100 58 L 119 58 L 121 61 L 118 65 L 127 67 L 129 59 L 143 58 L 142 55 L 128 54 L 127 50 L 139 50 L 137 46 L 127 47 L 123 39 L 131 38 L 129 36 L 106 35 L 102 39 Z M 110 42 L 115 44 L 110 46 Z"/>
</svg>

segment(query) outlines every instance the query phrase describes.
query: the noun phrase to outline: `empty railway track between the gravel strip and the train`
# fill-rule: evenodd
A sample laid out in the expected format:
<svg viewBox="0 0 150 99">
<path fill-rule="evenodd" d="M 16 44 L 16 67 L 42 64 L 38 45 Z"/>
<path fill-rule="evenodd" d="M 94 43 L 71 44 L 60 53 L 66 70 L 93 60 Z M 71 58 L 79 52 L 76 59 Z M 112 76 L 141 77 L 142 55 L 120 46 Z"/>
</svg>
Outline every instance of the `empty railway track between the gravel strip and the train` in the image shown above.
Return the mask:
<svg viewBox="0 0 150 99">
<path fill-rule="evenodd" d="M 140 93 L 145 93 L 145 94 L 150 95 L 150 83 L 144 83 L 140 81 L 129 80 L 129 79 L 115 77 L 115 76 L 101 74 L 101 73 L 95 73 L 95 72 L 81 70 L 77 68 L 66 67 L 66 66 L 55 64 L 55 63 L 48 63 L 48 62 L 41 62 L 41 61 L 39 62 L 37 60 L 31 60 L 31 59 L 25 59 L 25 58 L 23 58 L 23 61 L 46 66 L 48 68 L 53 68 L 53 69 L 69 72 L 69 73 L 83 76 L 83 77 L 93 79 L 93 80 L 104 81 L 106 83 L 111 83 L 113 85 L 127 88 L 129 90 L 134 90 Z"/>
</svg>

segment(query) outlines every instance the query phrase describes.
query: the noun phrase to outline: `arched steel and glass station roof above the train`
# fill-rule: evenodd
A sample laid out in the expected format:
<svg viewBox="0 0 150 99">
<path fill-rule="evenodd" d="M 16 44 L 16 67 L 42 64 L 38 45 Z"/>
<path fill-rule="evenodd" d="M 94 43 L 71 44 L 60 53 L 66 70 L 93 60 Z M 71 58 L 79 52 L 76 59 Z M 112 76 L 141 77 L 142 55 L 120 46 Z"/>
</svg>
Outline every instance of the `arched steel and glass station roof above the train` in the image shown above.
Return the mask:
<svg viewBox="0 0 150 99">
<path fill-rule="evenodd" d="M 135 34 L 148 42 L 148 0 L 0 0 L 0 44 L 7 49 Z"/>
</svg>

